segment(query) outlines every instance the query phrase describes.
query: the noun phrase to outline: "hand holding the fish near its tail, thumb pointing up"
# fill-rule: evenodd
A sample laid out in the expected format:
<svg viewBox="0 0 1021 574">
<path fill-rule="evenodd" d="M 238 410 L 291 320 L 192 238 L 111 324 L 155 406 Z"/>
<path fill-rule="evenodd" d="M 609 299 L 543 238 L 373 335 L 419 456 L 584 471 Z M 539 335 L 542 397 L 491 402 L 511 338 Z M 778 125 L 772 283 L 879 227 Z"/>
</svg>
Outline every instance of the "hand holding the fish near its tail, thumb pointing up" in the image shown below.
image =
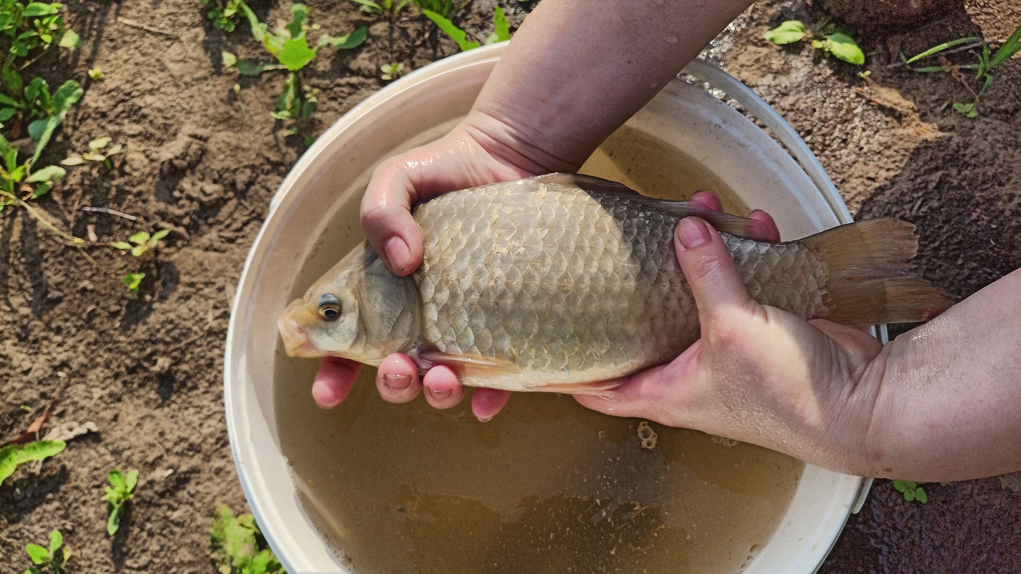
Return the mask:
<svg viewBox="0 0 1021 574">
<path fill-rule="evenodd" d="M 672 363 L 578 401 L 862 471 L 879 388 L 873 381 L 881 378 L 870 362 L 882 344 L 857 329 L 806 322 L 752 300 L 720 235 L 700 219 L 682 220 L 674 244 L 701 338 Z"/>
</svg>

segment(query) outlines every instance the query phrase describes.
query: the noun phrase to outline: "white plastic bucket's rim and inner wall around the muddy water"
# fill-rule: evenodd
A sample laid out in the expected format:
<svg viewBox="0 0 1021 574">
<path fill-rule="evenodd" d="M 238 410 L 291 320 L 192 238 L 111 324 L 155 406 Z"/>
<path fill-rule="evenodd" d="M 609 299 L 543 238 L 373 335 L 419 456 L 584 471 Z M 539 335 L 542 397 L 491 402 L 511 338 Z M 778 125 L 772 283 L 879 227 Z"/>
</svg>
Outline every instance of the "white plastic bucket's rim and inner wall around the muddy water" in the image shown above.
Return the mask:
<svg viewBox="0 0 1021 574">
<path fill-rule="evenodd" d="M 284 181 L 245 262 L 227 337 L 227 426 L 245 496 L 271 547 L 291 573 L 346 569 L 306 516 L 281 451 L 273 400 L 277 316 L 290 300 L 297 278 L 309 275 L 307 264 L 319 250 L 317 238 L 327 223 L 335 223 L 340 212 L 345 224 L 357 225 L 357 190 L 364 188 L 375 165 L 453 127 L 502 50 L 497 44 L 426 66 L 341 117 Z M 804 237 L 852 221 L 818 161 L 764 101 L 700 61 L 686 71 L 737 99 L 790 153 L 734 108 L 680 81 L 628 125 L 701 161 L 745 204 L 772 213 L 784 237 Z M 815 572 L 848 514 L 860 506 L 869 482 L 806 466 L 776 532 L 744 572 Z"/>
</svg>

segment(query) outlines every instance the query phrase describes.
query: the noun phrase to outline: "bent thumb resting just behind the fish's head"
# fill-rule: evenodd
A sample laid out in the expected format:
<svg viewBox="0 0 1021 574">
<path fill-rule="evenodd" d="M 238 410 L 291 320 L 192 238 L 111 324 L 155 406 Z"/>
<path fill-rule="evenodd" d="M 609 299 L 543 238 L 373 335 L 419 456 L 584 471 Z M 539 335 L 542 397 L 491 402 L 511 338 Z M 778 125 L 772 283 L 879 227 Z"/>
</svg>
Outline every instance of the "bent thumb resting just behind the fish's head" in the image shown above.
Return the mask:
<svg viewBox="0 0 1021 574">
<path fill-rule="evenodd" d="M 409 169 L 400 158 L 383 162 L 361 198 L 361 229 L 387 267 L 399 276 L 411 273 L 422 261 L 422 233 L 411 217 L 418 193 L 408 178 Z"/>
</svg>

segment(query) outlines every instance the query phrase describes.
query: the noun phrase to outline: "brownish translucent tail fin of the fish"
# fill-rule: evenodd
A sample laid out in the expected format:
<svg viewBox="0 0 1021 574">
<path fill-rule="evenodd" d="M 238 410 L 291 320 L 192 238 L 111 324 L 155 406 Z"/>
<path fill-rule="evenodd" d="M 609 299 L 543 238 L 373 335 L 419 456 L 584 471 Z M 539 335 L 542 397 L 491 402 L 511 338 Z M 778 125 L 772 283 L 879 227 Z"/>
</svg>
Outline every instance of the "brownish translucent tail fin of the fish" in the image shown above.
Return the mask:
<svg viewBox="0 0 1021 574">
<path fill-rule="evenodd" d="M 844 325 L 928 321 L 954 304 L 942 289 L 912 273 L 915 226 L 894 219 L 858 222 L 799 241 L 827 266 L 824 319 Z"/>
</svg>

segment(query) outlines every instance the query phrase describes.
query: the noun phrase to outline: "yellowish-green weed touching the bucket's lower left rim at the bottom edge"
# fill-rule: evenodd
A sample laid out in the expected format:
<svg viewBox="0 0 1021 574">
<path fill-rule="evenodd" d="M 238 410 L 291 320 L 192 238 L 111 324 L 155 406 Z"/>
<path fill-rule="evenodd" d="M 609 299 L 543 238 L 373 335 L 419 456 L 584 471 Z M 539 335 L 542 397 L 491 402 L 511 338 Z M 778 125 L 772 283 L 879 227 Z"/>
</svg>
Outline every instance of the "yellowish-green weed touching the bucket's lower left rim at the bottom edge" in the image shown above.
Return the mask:
<svg viewBox="0 0 1021 574">
<path fill-rule="evenodd" d="M 286 574 L 273 551 L 259 546 L 260 533 L 252 515 L 237 518 L 216 505 L 209 527 L 210 558 L 222 574 Z"/>
</svg>

